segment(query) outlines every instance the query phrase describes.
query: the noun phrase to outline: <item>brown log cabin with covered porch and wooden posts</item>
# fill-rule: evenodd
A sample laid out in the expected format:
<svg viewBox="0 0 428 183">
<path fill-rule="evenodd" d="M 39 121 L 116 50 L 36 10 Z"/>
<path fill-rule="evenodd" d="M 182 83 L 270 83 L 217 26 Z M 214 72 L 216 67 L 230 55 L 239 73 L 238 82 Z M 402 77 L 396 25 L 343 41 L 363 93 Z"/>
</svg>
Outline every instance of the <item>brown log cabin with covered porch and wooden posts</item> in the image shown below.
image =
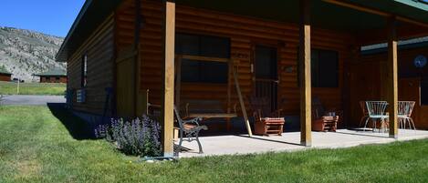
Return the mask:
<svg viewBox="0 0 428 183">
<path fill-rule="evenodd" d="M 159 104 L 172 156 L 173 106 L 189 100 L 240 103 L 248 124 L 247 98 L 268 97 L 299 117 L 301 144 L 311 146 L 312 98 L 352 120 L 350 76 L 367 69 L 355 65 L 360 47 L 378 43 L 388 45 L 378 74 L 396 138 L 397 41 L 427 35 L 428 5 L 416 0 L 87 0 L 57 61 L 68 63 L 79 114 L 136 117 Z"/>
</svg>

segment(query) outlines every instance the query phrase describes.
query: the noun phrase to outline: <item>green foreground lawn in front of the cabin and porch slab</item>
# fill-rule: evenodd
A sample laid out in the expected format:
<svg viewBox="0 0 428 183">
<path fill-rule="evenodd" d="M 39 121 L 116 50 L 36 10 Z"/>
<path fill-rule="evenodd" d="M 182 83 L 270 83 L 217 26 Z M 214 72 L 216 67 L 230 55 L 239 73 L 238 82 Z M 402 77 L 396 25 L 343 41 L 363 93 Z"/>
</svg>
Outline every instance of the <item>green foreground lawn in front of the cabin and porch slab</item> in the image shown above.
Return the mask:
<svg viewBox="0 0 428 183">
<path fill-rule="evenodd" d="M 51 108 L 0 108 L 0 182 L 428 182 L 428 140 L 130 163 Z"/>
</svg>

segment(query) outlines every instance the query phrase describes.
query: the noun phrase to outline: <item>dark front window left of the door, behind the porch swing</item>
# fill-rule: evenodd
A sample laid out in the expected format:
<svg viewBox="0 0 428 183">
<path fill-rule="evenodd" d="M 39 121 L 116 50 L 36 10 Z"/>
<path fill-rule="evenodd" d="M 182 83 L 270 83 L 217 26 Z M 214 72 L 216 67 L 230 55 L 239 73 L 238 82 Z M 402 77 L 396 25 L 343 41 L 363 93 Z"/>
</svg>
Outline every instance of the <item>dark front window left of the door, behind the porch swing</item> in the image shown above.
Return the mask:
<svg viewBox="0 0 428 183">
<path fill-rule="evenodd" d="M 175 53 L 179 55 L 230 57 L 229 38 L 177 34 Z M 228 63 L 182 60 L 182 82 L 227 83 Z"/>
</svg>

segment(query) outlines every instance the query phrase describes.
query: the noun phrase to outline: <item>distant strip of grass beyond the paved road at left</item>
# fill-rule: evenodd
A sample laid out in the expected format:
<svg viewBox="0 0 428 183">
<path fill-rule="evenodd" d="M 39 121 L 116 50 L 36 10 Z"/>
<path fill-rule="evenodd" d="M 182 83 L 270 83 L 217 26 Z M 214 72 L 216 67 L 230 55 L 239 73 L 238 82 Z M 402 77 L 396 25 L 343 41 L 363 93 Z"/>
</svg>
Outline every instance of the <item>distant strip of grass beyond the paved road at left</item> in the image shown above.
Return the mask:
<svg viewBox="0 0 428 183">
<path fill-rule="evenodd" d="M 16 83 L 0 81 L 0 94 L 16 95 Z M 19 95 L 62 96 L 66 84 L 62 83 L 20 83 Z"/>
</svg>

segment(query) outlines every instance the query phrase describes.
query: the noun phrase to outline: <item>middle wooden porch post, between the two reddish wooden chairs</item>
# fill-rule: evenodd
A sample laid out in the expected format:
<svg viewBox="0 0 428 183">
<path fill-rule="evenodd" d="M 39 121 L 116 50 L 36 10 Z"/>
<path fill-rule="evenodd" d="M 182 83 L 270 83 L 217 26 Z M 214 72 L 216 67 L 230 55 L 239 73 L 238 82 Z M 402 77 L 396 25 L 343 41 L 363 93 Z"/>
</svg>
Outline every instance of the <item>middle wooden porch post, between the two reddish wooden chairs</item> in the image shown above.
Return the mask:
<svg viewBox="0 0 428 183">
<path fill-rule="evenodd" d="M 299 75 L 300 75 L 300 142 L 312 145 L 311 137 L 311 78 L 310 78 L 310 0 L 300 0 L 299 25 Z"/>
</svg>

